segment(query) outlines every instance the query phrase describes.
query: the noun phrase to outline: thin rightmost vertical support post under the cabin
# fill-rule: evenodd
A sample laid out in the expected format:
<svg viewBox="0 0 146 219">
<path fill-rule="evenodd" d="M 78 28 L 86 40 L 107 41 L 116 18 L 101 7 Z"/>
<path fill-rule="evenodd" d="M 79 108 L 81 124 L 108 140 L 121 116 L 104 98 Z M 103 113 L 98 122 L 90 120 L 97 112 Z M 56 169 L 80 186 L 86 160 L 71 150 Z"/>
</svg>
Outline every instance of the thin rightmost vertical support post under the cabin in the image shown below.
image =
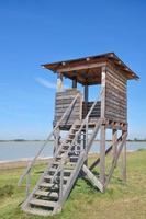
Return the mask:
<svg viewBox="0 0 146 219">
<path fill-rule="evenodd" d="M 122 135 L 125 131 L 122 131 Z M 123 151 L 122 151 L 122 178 L 126 182 L 126 139 L 124 140 Z"/>
</svg>

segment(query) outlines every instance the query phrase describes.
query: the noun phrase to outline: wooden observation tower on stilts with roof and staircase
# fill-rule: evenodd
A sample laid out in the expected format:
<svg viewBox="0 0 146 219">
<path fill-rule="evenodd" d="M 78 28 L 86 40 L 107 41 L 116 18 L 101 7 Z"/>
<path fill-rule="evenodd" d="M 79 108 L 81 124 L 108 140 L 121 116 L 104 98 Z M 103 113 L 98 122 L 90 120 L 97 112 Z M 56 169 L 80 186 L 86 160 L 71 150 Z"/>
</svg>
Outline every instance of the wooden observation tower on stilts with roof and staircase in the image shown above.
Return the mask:
<svg viewBox="0 0 146 219">
<path fill-rule="evenodd" d="M 57 74 L 55 116 L 53 131 L 54 158 L 40 177 L 34 189 L 22 204 L 26 212 L 49 216 L 61 210 L 79 175 L 86 176 L 102 193 L 105 191 L 122 152 L 122 176 L 126 181 L 126 137 L 127 137 L 127 80 L 138 79 L 114 53 L 79 58 L 54 64 L 44 68 Z M 63 88 L 64 78 L 71 80 L 71 88 Z M 82 90 L 78 89 L 82 84 Z M 96 101 L 89 100 L 89 88 L 98 87 Z M 106 147 L 106 130 L 111 129 L 112 143 Z M 66 132 L 66 136 L 61 134 Z M 99 153 L 88 166 L 88 153 L 96 137 Z M 45 142 L 45 145 L 46 145 Z M 21 176 L 29 176 L 41 148 L 32 163 Z M 112 152 L 111 166 L 105 170 L 105 158 Z M 99 177 L 92 170 L 99 166 Z M 29 182 L 29 177 L 27 177 Z M 29 185 L 29 183 L 27 183 Z"/>
</svg>

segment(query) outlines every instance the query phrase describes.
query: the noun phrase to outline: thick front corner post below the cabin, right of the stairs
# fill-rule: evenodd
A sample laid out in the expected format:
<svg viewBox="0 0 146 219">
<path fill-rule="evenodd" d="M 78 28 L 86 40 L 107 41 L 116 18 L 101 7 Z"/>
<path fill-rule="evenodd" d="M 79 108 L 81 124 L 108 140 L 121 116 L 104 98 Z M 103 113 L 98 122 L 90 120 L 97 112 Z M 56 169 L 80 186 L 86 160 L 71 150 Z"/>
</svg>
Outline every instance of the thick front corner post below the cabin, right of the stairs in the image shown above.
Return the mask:
<svg viewBox="0 0 146 219">
<path fill-rule="evenodd" d="M 105 182 L 105 126 L 101 125 L 100 130 L 100 182 Z"/>
</svg>

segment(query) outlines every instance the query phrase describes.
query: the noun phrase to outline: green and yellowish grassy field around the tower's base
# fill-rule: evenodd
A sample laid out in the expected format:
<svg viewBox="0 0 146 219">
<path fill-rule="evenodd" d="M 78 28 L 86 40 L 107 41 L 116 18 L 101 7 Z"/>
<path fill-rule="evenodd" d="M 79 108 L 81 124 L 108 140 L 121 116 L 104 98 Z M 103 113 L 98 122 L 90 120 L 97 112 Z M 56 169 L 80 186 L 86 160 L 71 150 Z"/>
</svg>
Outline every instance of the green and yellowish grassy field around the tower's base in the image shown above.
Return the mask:
<svg viewBox="0 0 146 219">
<path fill-rule="evenodd" d="M 91 157 L 89 162 L 92 159 Z M 36 182 L 43 168 L 43 164 L 35 166 L 32 184 Z M 0 170 L 0 219 L 44 218 L 21 211 L 20 204 L 25 196 L 25 184 L 16 187 L 16 183 L 22 172 L 22 168 Z M 127 154 L 126 184 L 122 183 L 120 176 L 117 168 L 104 194 L 79 178 L 63 212 L 53 216 L 52 219 L 146 219 L 146 150 Z"/>
</svg>

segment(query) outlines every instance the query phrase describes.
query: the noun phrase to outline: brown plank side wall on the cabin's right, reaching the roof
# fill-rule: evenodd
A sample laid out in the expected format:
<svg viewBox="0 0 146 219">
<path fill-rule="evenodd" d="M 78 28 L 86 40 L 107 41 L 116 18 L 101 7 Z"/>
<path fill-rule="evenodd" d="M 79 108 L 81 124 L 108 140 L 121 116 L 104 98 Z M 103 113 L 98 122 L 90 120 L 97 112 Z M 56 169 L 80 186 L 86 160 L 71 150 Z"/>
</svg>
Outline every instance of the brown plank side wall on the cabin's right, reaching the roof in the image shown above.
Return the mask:
<svg viewBox="0 0 146 219">
<path fill-rule="evenodd" d="M 105 74 L 105 118 L 126 123 L 126 78 L 108 69 Z"/>
</svg>

